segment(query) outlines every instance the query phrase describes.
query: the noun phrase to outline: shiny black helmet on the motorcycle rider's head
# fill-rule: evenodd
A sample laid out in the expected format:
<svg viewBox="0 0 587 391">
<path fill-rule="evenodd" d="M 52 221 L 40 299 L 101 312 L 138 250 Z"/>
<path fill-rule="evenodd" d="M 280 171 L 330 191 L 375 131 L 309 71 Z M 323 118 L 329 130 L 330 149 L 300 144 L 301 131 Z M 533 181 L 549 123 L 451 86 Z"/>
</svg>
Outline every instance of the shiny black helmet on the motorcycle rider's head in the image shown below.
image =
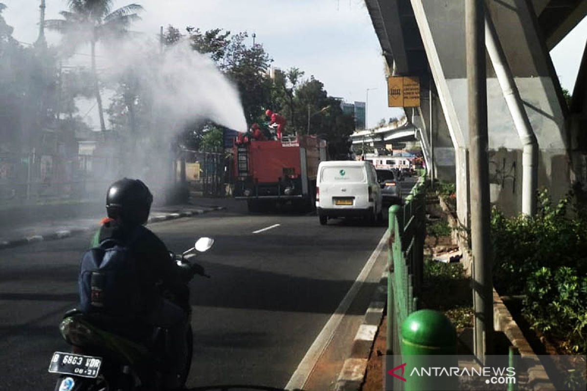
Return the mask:
<svg viewBox="0 0 587 391">
<path fill-rule="evenodd" d="M 153 195 L 139 179 L 123 178 L 106 193 L 106 212 L 127 225 L 143 225 L 149 219 Z"/>
</svg>

